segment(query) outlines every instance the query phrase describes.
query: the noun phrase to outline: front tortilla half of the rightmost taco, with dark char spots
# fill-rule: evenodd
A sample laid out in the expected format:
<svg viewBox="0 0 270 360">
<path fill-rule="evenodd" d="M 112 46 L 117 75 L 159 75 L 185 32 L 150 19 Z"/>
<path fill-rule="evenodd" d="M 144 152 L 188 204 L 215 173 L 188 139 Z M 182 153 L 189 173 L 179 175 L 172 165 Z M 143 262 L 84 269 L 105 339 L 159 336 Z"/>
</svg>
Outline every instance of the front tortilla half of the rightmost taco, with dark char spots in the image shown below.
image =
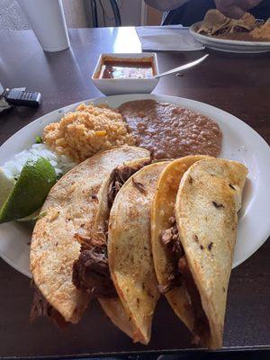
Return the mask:
<svg viewBox="0 0 270 360">
<path fill-rule="evenodd" d="M 238 209 L 247 167 L 224 159 L 200 160 L 182 177 L 175 219 L 202 309 L 209 321 L 204 346 L 222 346 Z"/>
</svg>

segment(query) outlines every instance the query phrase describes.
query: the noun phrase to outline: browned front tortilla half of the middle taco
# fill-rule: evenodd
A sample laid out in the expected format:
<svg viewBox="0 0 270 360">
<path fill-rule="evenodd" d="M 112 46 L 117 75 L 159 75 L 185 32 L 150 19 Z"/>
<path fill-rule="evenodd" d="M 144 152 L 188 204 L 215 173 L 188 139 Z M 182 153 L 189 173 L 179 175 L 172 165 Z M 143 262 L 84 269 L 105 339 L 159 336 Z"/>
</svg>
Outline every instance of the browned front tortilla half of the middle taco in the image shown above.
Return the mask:
<svg viewBox="0 0 270 360">
<path fill-rule="evenodd" d="M 111 210 L 108 257 L 112 281 L 136 331 L 148 344 L 159 292 L 150 243 L 150 208 L 167 162 L 143 167 L 121 187 Z"/>
</svg>

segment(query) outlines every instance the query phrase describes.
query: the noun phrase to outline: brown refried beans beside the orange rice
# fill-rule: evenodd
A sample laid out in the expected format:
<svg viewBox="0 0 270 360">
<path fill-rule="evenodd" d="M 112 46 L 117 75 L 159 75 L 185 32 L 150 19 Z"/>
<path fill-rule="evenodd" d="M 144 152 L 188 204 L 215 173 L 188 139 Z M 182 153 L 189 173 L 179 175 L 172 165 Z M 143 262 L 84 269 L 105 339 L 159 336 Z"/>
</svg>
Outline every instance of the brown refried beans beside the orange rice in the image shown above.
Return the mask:
<svg viewBox="0 0 270 360">
<path fill-rule="evenodd" d="M 222 133 L 207 116 L 150 99 L 122 103 L 118 110 L 136 144 L 150 150 L 154 158 L 220 154 Z"/>
</svg>

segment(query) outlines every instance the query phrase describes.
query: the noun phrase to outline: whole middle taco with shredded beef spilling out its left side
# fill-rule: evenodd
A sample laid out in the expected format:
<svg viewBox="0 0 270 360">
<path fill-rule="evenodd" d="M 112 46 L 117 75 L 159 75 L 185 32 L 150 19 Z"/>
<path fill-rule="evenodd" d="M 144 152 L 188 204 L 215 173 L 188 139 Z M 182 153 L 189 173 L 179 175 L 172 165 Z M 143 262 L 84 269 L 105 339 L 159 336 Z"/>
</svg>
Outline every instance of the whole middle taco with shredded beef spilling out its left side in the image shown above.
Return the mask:
<svg viewBox="0 0 270 360">
<path fill-rule="evenodd" d="M 150 248 L 150 201 L 156 190 L 157 177 L 165 166 L 165 163 L 147 166 L 149 162 L 149 158 L 126 162 L 114 168 L 103 181 L 97 193 L 99 205 L 94 214 L 92 238 L 86 244 L 82 243 L 81 254 L 73 267 L 76 287 L 97 297 L 112 322 L 133 341 L 143 344 L 149 341 L 152 315 L 159 297 Z M 133 202 L 134 196 L 138 203 Z M 118 209 L 120 202 L 125 209 Z M 143 208 L 139 210 L 139 207 Z M 138 217 L 130 217 L 128 208 L 133 215 L 137 211 Z M 130 232 L 136 232 L 138 238 L 132 238 Z M 117 238 L 114 238 L 116 233 Z M 118 252 L 120 248 L 121 253 Z M 140 254 L 139 258 L 135 253 Z M 140 284 L 140 293 L 137 293 L 138 285 L 127 279 L 130 275 L 121 279 L 127 283 L 119 281 L 115 275 L 118 265 L 124 273 L 129 270 L 134 276 Z M 130 310 L 132 303 L 125 296 L 127 284 L 130 286 L 127 292 L 131 297 L 136 296 L 135 310 Z"/>
</svg>

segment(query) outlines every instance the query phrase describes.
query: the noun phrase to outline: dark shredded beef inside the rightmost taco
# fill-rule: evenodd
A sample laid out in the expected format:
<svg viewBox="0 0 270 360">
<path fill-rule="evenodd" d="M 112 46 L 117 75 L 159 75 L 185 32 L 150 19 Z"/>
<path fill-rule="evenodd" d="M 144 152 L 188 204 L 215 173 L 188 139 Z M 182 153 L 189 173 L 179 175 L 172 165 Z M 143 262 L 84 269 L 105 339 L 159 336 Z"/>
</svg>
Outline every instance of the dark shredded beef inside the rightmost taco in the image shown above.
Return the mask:
<svg viewBox="0 0 270 360">
<path fill-rule="evenodd" d="M 171 228 L 166 229 L 161 234 L 161 243 L 168 249 L 173 258 L 175 266 L 172 274 L 169 275 L 168 284 L 162 286 L 161 293 L 167 293 L 169 290 L 184 283 L 191 300 L 193 313 L 195 315 L 193 333 L 200 339 L 206 339 L 210 333 L 209 321 L 202 309 L 201 295 L 193 280 L 193 275 L 188 266 L 184 255 L 184 248 L 180 242 L 175 217 L 170 219 Z"/>
</svg>

